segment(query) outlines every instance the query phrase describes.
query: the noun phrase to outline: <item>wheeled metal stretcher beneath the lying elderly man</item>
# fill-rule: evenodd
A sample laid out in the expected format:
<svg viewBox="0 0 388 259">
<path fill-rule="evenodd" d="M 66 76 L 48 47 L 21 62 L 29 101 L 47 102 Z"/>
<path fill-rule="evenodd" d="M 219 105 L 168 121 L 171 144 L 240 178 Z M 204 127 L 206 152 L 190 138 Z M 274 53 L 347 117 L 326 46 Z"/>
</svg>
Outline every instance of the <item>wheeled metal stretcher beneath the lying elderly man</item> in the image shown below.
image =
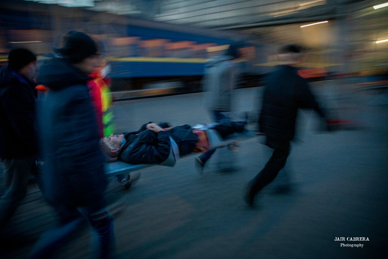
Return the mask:
<svg viewBox="0 0 388 259">
<path fill-rule="evenodd" d="M 251 131 L 244 131 L 242 133 L 233 133 L 227 136 L 226 138 L 222 138 L 220 134 L 218 134 L 217 130 L 215 129 L 205 129 L 206 135 L 208 137 L 208 142 L 210 148 L 223 148 L 228 146 L 229 144 L 236 143 L 236 142 L 241 142 L 243 140 L 252 138 L 257 136 L 258 134 L 256 132 L 251 132 Z M 170 155 L 164 161 L 163 163 L 160 164 L 130 164 L 130 163 L 125 163 L 122 161 L 116 161 L 116 162 L 111 162 L 111 163 L 105 163 L 105 174 L 108 177 L 112 176 L 119 176 L 121 179 L 126 179 L 126 177 L 123 177 L 124 175 L 129 175 L 131 172 L 145 169 L 147 167 L 151 167 L 154 165 L 163 165 L 163 166 L 169 166 L 173 167 L 175 165 L 175 162 L 180 158 L 179 157 L 179 151 L 178 151 L 178 145 L 175 143 L 175 141 L 170 137 L 170 142 L 171 142 L 171 150 L 170 150 Z M 193 154 L 193 153 L 191 153 Z M 191 155 L 189 154 L 189 155 Z M 125 181 L 122 182 L 123 185 L 125 185 Z"/>
</svg>

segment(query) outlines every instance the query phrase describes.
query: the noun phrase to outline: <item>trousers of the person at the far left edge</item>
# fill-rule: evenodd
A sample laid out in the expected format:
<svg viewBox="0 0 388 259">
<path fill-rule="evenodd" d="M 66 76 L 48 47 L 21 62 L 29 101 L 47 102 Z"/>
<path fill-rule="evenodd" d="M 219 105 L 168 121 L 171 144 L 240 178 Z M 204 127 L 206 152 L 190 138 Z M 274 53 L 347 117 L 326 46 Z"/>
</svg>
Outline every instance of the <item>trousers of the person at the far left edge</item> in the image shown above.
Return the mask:
<svg viewBox="0 0 388 259">
<path fill-rule="evenodd" d="M 5 193 L 0 198 L 0 232 L 26 196 L 35 157 L 3 158 L 1 162 L 4 169 Z"/>
</svg>

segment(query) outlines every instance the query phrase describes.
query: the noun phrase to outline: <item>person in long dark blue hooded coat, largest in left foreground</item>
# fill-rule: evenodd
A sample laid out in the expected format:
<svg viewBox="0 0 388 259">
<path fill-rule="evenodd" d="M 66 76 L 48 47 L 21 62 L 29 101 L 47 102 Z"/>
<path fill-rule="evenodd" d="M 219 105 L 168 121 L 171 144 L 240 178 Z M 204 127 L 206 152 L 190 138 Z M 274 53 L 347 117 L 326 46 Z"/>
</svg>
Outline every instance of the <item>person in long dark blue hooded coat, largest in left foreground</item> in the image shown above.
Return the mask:
<svg viewBox="0 0 388 259">
<path fill-rule="evenodd" d="M 106 208 L 104 157 L 87 86 L 88 75 L 99 66 L 99 50 L 90 36 L 70 31 L 57 51 L 62 56 L 43 64 L 38 77 L 50 90 L 40 99 L 37 113 L 44 195 L 60 224 L 41 236 L 30 258 L 52 256 L 80 229 L 83 218 L 97 235 L 96 257 L 110 258 L 115 247 L 113 216 Z"/>
</svg>

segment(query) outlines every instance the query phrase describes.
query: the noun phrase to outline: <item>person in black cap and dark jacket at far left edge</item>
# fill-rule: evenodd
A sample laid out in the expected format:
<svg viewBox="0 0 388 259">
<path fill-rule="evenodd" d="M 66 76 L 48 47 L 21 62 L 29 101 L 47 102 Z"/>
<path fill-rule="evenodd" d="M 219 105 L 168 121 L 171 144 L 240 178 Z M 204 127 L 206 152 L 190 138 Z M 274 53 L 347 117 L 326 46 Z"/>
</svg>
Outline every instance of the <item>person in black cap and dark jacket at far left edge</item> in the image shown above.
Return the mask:
<svg viewBox="0 0 388 259">
<path fill-rule="evenodd" d="M 35 166 L 36 57 L 27 49 L 12 49 L 0 71 L 0 159 L 5 193 L 0 198 L 0 232 L 26 195 Z"/>
</svg>

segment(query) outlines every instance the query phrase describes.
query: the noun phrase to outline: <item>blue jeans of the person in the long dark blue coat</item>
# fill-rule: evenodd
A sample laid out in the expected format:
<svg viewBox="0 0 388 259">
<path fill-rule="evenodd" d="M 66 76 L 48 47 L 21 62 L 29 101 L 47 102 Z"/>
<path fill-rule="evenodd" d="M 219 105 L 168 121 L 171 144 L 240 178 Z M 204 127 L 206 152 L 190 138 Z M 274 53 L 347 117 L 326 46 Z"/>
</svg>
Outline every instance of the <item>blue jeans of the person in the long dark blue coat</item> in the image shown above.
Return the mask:
<svg viewBox="0 0 388 259">
<path fill-rule="evenodd" d="M 87 221 L 94 229 L 98 247 L 92 258 L 112 258 L 115 252 L 113 216 L 107 211 L 101 196 L 84 207 L 55 205 L 59 227 L 43 233 L 35 243 L 29 258 L 52 258 L 53 253 L 78 232 Z"/>
</svg>

